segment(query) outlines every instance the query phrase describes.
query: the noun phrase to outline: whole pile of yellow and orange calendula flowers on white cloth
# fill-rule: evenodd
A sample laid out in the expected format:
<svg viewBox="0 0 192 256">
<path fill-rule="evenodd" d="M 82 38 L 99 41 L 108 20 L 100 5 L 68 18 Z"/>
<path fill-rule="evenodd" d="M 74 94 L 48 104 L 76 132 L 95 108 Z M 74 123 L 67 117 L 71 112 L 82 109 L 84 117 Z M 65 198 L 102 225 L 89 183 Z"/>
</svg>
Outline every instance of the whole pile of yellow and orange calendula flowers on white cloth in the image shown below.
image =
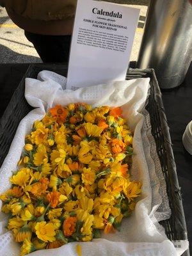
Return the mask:
<svg viewBox="0 0 192 256">
<path fill-rule="evenodd" d="M 132 133 L 122 109 L 55 106 L 36 121 L 0 196 L 20 255 L 120 230 L 141 183 L 131 181 Z"/>
</svg>

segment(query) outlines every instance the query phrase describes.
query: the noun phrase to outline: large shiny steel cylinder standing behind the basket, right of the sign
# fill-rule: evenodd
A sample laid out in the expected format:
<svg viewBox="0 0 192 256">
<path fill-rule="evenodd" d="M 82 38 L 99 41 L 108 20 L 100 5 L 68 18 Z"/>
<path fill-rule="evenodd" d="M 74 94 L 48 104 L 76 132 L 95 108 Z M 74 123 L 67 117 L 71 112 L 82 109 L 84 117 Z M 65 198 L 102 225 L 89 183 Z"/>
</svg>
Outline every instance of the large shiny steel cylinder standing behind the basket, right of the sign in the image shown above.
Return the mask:
<svg viewBox="0 0 192 256">
<path fill-rule="evenodd" d="M 138 68 L 154 68 L 159 86 L 179 86 L 192 59 L 192 7 L 188 0 L 151 0 Z"/>
</svg>

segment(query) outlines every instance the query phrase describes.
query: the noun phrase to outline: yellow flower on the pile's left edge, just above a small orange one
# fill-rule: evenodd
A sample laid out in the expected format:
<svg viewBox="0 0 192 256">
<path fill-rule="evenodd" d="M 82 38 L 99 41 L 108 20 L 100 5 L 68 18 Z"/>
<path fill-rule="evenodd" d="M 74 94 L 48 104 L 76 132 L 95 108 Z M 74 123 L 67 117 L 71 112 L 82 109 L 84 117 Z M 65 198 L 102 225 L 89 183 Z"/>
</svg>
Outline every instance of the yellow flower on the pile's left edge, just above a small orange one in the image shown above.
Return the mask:
<svg viewBox="0 0 192 256">
<path fill-rule="evenodd" d="M 10 178 L 10 182 L 19 186 L 26 186 L 26 183 L 29 181 L 30 178 L 29 173 L 29 168 L 22 168 L 19 170 L 19 172 L 17 172 L 17 174 L 13 175 L 12 178 Z"/>
</svg>

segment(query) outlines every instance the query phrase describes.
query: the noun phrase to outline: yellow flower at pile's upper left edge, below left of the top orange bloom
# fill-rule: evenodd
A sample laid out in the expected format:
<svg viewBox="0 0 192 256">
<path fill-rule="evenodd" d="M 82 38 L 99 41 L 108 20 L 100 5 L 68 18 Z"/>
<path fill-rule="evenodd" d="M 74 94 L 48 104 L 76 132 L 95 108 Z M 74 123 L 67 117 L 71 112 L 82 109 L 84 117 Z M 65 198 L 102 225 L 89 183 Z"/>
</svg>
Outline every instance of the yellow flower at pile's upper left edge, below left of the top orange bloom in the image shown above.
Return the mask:
<svg viewBox="0 0 192 256">
<path fill-rule="evenodd" d="M 36 131 L 31 132 L 31 141 L 36 145 L 47 143 L 49 129 L 45 128 L 44 125 L 41 125 Z"/>
</svg>

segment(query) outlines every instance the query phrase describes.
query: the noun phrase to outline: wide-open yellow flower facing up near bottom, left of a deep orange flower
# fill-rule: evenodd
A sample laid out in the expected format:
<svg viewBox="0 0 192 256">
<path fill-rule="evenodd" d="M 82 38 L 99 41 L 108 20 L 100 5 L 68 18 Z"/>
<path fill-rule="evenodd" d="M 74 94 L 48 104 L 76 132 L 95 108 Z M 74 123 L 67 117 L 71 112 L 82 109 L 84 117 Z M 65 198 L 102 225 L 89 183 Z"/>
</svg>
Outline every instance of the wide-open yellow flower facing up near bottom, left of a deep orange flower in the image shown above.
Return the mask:
<svg viewBox="0 0 192 256">
<path fill-rule="evenodd" d="M 53 242 L 56 240 L 55 228 L 52 223 L 46 223 L 46 221 L 40 221 L 35 225 L 36 236 L 38 239 L 44 242 Z"/>
</svg>

